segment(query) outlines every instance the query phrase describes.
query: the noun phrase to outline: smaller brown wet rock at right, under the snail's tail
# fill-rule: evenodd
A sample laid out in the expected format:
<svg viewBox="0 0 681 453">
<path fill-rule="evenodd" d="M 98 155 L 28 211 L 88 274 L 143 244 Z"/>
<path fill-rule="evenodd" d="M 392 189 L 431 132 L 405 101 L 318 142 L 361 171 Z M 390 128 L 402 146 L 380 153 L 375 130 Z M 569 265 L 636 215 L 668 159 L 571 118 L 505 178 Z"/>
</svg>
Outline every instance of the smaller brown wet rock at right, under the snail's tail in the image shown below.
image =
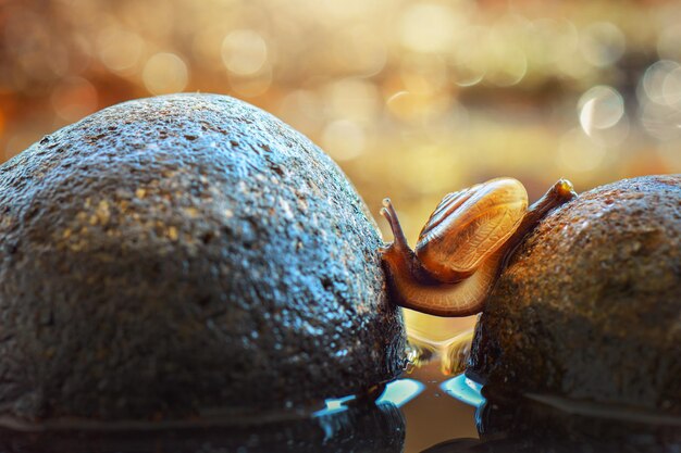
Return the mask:
<svg viewBox="0 0 681 453">
<path fill-rule="evenodd" d="M 468 374 L 681 413 L 681 176 L 621 180 L 549 214 L 492 294 Z"/>
</svg>

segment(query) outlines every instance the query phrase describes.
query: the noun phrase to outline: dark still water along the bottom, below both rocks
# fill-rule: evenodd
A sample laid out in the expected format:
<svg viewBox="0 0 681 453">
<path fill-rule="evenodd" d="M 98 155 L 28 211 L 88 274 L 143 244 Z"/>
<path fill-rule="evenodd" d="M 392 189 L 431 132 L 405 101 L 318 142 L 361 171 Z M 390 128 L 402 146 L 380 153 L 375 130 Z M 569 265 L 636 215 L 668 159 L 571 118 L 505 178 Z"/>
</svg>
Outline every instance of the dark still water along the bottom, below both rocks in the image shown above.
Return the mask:
<svg viewBox="0 0 681 453">
<path fill-rule="evenodd" d="M 0 430 L 0 453 L 227 452 L 669 452 L 681 453 L 681 418 L 546 395 L 508 399 L 426 366 L 372 403 L 355 398 L 278 414 L 183 424 Z M 24 427 L 25 428 L 25 427 Z"/>
</svg>

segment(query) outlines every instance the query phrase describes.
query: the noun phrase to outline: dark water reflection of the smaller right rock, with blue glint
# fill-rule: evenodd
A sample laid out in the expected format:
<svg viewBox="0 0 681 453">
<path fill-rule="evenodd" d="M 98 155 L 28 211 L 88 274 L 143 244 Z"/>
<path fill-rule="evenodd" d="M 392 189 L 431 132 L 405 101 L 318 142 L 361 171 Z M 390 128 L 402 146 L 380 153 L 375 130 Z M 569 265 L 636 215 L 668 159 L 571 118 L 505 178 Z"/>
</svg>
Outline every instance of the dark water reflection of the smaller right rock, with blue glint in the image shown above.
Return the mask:
<svg viewBox="0 0 681 453">
<path fill-rule="evenodd" d="M 443 388 L 476 404 L 479 439 L 451 439 L 429 453 L 681 451 L 681 417 L 553 395 L 509 397 L 463 375 Z"/>
</svg>

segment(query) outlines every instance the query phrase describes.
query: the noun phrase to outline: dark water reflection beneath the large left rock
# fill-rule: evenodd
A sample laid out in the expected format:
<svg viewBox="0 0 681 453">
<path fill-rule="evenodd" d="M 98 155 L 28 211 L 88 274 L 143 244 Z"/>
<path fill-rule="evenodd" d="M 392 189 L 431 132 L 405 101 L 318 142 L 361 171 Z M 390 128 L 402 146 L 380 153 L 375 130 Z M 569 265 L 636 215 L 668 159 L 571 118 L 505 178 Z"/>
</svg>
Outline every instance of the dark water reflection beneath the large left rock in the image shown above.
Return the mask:
<svg viewBox="0 0 681 453">
<path fill-rule="evenodd" d="M 231 421 L 117 431 L 0 428 L 0 449 L 3 453 L 397 453 L 405 444 L 405 419 L 389 403 L 307 418 Z"/>
</svg>

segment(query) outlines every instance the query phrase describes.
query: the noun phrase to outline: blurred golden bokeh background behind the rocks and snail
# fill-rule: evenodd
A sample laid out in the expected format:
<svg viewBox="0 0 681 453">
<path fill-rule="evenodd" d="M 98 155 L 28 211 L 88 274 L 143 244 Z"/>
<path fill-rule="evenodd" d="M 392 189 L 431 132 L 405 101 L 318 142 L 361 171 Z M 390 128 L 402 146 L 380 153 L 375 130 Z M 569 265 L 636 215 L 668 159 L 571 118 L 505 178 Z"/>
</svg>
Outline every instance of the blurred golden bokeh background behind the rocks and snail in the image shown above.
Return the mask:
<svg viewBox="0 0 681 453">
<path fill-rule="evenodd" d="M 680 24 L 654 0 L 0 0 L 0 162 L 121 101 L 226 93 L 320 144 L 374 214 L 389 196 L 413 243 L 492 177 L 535 199 L 681 172 Z M 473 323 L 407 316 L 433 343 Z"/>
</svg>

